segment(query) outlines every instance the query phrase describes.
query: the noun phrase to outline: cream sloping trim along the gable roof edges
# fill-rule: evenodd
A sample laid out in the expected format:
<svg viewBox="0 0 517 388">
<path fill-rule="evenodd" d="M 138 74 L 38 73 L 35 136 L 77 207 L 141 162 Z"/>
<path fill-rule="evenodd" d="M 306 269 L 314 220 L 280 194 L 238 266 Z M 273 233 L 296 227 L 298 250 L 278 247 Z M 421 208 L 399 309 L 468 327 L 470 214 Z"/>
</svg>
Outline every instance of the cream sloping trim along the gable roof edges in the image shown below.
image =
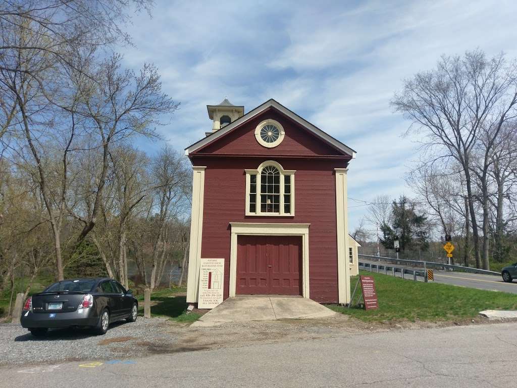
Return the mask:
<svg viewBox="0 0 517 388">
<path fill-rule="evenodd" d="M 237 120 L 235 120 L 233 123 L 230 123 L 226 125 L 225 127 L 219 129 L 218 131 L 211 133 L 211 135 L 201 139 L 200 141 L 192 144 L 190 147 L 185 149 L 185 155 L 189 155 L 191 152 L 194 152 L 195 150 L 198 150 L 199 148 L 203 147 L 204 145 L 210 143 L 212 140 L 215 140 L 221 136 L 223 136 L 225 133 L 231 131 L 236 126 L 244 123 L 245 121 L 250 120 L 254 116 L 262 113 L 264 110 L 266 110 L 269 107 L 273 107 L 278 109 L 280 112 L 285 114 L 288 117 L 291 117 L 294 121 L 296 121 L 298 124 L 302 125 L 303 127 L 306 127 L 311 132 L 313 132 L 318 137 L 324 139 L 328 143 L 332 144 L 334 147 L 338 148 L 338 150 L 343 151 L 344 153 L 348 155 L 352 155 L 352 158 L 355 158 L 356 152 L 352 150 L 352 148 L 346 146 L 345 144 L 341 143 L 339 140 L 334 139 L 324 131 L 322 131 L 320 128 L 312 125 L 304 118 L 298 116 L 297 114 L 291 112 L 287 108 L 285 108 L 283 105 L 278 103 L 277 101 L 270 99 L 266 102 L 264 102 L 262 105 L 256 107 L 252 111 L 249 111 L 244 116 L 239 117 Z"/>
</svg>

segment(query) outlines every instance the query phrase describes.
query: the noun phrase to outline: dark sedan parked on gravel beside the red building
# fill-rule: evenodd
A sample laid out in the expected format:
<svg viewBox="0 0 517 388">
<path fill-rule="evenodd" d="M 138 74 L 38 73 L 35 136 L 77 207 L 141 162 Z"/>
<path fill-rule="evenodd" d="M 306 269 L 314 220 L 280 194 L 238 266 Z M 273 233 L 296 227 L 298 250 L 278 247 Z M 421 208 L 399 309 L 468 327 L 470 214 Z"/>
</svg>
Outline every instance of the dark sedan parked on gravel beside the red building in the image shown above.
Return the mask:
<svg viewBox="0 0 517 388">
<path fill-rule="evenodd" d="M 105 334 L 112 322 L 136 321 L 138 301 L 131 290 L 108 278 L 62 280 L 29 296 L 21 323 L 34 336 L 49 328 L 92 327 Z"/>
</svg>

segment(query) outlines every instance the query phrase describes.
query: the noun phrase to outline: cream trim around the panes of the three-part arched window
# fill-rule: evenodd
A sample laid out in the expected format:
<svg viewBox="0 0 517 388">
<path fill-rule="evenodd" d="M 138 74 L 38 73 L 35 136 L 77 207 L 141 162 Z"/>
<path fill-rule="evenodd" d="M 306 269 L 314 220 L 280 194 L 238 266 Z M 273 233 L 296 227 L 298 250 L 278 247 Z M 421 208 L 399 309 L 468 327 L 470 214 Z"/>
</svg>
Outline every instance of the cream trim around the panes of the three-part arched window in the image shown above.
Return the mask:
<svg viewBox="0 0 517 388">
<path fill-rule="evenodd" d="M 280 213 L 263 213 L 261 212 L 260 203 L 260 189 L 261 189 L 261 172 L 266 166 L 274 166 L 280 172 Z M 247 216 L 260 216 L 260 217 L 294 217 L 294 205 L 295 205 L 295 185 L 294 185 L 294 174 L 296 170 L 284 170 L 280 163 L 274 160 L 266 160 L 261 163 L 256 170 L 244 170 L 246 171 L 246 211 Z M 250 212 L 250 175 L 256 175 L 256 193 L 255 193 L 255 213 Z M 291 176 L 291 213 L 284 212 L 284 176 Z"/>
</svg>

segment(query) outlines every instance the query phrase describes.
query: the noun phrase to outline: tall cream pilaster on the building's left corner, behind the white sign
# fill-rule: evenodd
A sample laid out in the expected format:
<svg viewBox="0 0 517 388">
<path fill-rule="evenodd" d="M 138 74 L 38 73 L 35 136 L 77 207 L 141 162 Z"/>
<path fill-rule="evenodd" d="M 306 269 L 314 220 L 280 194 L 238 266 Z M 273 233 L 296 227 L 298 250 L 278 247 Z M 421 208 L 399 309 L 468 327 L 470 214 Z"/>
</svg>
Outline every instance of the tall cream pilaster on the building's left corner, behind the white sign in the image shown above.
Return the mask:
<svg viewBox="0 0 517 388">
<path fill-rule="evenodd" d="M 192 167 L 192 211 L 190 218 L 189 271 L 187 277 L 187 303 L 197 303 L 201 239 L 203 236 L 203 202 L 205 195 L 204 166 Z"/>
</svg>

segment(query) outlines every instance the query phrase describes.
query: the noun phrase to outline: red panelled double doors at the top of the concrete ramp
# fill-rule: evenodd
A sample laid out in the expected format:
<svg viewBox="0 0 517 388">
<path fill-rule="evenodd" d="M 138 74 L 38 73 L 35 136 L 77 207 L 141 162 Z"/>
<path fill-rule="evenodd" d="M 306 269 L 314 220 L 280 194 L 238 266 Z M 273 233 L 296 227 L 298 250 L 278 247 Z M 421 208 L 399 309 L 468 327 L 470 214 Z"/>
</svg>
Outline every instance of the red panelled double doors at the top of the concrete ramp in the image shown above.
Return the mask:
<svg viewBox="0 0 517 388">
<path fill-rule="evenodd" d="M 301 236 L 238 236 L 235 292 L 301 295 Z"/>
</svg>

